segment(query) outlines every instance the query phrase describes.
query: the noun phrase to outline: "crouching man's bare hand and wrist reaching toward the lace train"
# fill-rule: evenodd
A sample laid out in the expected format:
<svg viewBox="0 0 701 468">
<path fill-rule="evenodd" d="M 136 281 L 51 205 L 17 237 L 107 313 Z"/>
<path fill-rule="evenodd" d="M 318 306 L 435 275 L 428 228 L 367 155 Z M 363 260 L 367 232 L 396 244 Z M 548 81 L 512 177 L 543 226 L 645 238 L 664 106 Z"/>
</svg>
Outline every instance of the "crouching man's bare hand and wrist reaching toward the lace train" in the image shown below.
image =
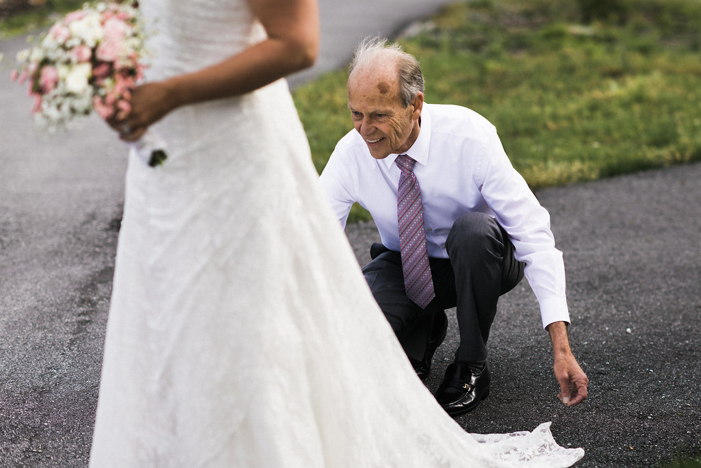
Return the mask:
<svg viewBox="0 0 701 468">
<path fill-rule="evenodd" d="M 587 398 L 589 378 L 572 355 L 567 337 L 567 324 L 565 322 L 552 322 L 547 326 L 547 331 L 550 333 L 550 340 L 552 340 L 552 355 L 554 357 L 552 369 L 560 384 L 560 393 L 557 397 L 567 406 L 575 406 Z"/>
</svg>

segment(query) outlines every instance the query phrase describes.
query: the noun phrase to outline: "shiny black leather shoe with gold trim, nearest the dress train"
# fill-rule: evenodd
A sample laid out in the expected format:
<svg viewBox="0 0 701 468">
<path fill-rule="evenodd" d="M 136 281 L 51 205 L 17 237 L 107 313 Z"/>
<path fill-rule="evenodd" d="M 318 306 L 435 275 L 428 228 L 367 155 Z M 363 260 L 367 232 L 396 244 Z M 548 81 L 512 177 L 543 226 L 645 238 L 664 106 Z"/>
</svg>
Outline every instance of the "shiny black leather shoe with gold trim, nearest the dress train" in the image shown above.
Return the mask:
<svg viewBox="0 0 701 468">
<path fill-rule="evenodd" d="M 477 408 L 489 396 L 489 369 L 479 364 L 454 362 L 445 371 L 443 383 L 436 392 L 440 406 L 451 416 Z"/>
</svg>

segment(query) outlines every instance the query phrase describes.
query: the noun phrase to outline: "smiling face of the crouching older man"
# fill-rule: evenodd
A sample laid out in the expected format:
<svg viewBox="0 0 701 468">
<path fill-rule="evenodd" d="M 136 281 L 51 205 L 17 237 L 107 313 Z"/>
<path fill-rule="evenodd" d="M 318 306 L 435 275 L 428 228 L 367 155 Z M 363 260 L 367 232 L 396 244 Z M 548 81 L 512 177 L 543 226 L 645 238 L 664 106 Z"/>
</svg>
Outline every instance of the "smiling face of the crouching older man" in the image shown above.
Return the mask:
<svg viewBox="0 0 701 468">
<path fill-rule="evenodd" d="M 373 158 L 383 159 L 411 148 L 418 137 L 423 94 L 404 107 L 396 72 L 353 72 L 348 78 L 348 108 L 355 130 Z"/>
</svg>

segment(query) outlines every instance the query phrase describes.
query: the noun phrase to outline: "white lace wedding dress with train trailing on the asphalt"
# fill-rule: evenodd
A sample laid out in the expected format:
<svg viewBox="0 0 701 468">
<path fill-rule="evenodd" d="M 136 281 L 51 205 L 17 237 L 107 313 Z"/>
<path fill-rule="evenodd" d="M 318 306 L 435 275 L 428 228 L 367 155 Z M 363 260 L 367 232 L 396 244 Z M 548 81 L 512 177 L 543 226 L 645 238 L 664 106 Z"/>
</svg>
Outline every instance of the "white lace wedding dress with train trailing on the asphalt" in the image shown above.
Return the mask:
<svg viewBox="0 0 701 468">
<path fill-rule="evenodd" d="M 142 0 L 149 79 L 264 37 L 245 0 Z M 349 121 L 350 124 L 350 121 Z M 318 187 L 284 80 L 132 151 L 93 467 L 565 467 L 547 424 L 467 434 L 416 378 Z"/>
</svg>

